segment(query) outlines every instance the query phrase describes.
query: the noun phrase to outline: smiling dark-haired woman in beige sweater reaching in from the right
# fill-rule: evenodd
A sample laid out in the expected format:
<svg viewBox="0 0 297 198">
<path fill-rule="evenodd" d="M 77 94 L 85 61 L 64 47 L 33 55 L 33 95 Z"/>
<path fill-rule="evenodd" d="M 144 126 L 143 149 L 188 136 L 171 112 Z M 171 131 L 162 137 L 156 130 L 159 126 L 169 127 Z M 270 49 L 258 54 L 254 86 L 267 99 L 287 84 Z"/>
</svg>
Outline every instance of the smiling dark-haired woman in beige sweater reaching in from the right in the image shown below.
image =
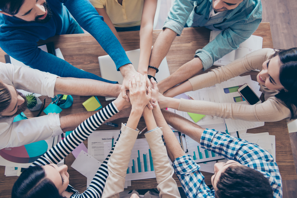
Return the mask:
<svg viewBox="0 0 297 198">
<path fill-rule="evenodd" d="M 213 86 L 255 69 L 260 70 L 257 81 L 265 98 L 265 102 L 261 104 L 247 105 L 171 98 L 184 92 Z M 296 73 L 297 48 L 288 50 L 264 48 L 228 65 L 192 77 L 169 89 L 164 93 L 167 97 L 159 96 L 160 106 L 245 121 L 273 122 L 284 118 L 291 121 L 297 119 Z"/>
</svg>

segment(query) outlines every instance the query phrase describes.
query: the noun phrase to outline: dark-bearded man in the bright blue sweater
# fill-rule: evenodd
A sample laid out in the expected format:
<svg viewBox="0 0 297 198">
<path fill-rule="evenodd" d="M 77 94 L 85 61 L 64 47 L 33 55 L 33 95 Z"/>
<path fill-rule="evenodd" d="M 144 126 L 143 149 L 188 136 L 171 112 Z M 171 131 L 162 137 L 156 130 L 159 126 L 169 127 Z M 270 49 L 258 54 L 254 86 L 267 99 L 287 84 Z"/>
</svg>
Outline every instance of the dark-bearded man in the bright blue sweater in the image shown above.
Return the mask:
<svg viewBox="0 0 297 198">
<path fill-rule="evenodd" d="M 39 39 L 83 33 L 82 26 L 110 55 L 124 82 L 128 82 L 127 76 L 137 74 L 118 39 L 88 0 L 1 0 L 0 9 L 1 49 L 34 69 L 61 77 L 116 83 L 82 71 L 37 47 Z"/>
</svg>

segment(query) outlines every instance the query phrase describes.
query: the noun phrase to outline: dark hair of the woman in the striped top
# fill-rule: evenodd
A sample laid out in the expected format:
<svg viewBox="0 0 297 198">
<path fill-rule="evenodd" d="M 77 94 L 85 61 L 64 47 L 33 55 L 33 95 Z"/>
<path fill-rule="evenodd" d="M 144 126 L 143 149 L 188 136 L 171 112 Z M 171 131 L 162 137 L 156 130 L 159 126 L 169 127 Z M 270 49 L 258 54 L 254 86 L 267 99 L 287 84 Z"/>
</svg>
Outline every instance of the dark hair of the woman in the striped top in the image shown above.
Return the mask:
<svg viewBox="0 0 297 198">
<path fill-rule="evenodd" d="M 12 187 L 12 198 L 64 198 L 55 184 L 46 178 L 41 166 L 27 168 Z"/>
</svg>

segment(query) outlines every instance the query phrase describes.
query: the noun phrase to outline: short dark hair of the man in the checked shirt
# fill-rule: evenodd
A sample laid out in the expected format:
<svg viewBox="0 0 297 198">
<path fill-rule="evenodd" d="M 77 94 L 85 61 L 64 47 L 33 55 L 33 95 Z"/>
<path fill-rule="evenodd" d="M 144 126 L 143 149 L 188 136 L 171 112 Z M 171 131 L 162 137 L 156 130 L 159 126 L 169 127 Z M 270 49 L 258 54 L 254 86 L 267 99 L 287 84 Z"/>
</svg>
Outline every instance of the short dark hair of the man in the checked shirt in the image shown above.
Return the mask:
<svg viewBox="0 0 297 198">
<path fill-rule="evenodd" d="M 215 197 L 273 198 L 273 191 L 261 172 L 246 166 L 230 166 L 217 182 Z"/>
</svg>

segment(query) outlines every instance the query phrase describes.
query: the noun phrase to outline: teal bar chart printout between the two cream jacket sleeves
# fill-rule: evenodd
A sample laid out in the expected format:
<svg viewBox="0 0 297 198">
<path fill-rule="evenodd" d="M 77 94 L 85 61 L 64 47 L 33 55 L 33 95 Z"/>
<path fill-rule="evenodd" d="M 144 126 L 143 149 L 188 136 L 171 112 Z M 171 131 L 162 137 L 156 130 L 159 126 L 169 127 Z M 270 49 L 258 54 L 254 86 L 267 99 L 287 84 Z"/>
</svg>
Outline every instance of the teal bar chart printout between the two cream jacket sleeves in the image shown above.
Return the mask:
<svg viewBox="0 0 297 198">
<path fill-rule="evenodd" d="M 107 156 L 111 150 L 111 142 L 104 143 L 104 153 Z M 151 150 L 146 139 L 137 139 L 132 149 L 127 168 L 126 181 L 155 178 Z"/>
</svg>

